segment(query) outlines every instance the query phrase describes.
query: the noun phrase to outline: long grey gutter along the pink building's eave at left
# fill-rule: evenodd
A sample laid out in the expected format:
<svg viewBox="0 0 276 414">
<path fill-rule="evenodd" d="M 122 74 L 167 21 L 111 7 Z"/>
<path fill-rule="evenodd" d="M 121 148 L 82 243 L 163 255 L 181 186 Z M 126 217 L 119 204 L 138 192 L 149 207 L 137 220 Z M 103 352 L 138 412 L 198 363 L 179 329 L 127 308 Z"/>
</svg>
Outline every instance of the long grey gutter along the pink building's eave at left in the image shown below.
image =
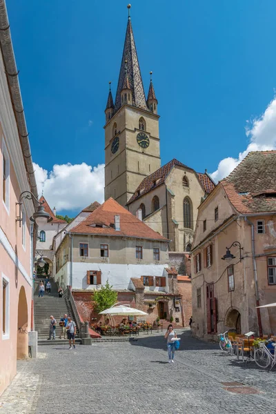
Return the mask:
<svg viewBox="0 0 276 414">
<path fill-rule="evenodd" d="M 17 130 L 23 153 L 23 159 L 27 170 L 28 181 L 30 183 L 30 190 L 34 196 L 38 198 L 39 195 L 37 192 L 37 183 L 34 177 L 34 167 L 32 165 L 32 155 L 30 152 L 30 142 L 28 139 L 29 134 L 26 126 L 26 119 L 24 116 L 23 103 L 19 86 L 19 71 L 17 70 L 17 64 L 15 62 L 14 52 L 12 48 L 10 24 L 8 21 L 5 0 L 0 0 L 0 48 L 1 55 L 3 57 L 3 63 L 5 66 L 14 117 L 17 122 Z M 37 203 L 34 201 L 32 202 L 35 203 L 34 206 L 36 206 Z"/>
</svg>

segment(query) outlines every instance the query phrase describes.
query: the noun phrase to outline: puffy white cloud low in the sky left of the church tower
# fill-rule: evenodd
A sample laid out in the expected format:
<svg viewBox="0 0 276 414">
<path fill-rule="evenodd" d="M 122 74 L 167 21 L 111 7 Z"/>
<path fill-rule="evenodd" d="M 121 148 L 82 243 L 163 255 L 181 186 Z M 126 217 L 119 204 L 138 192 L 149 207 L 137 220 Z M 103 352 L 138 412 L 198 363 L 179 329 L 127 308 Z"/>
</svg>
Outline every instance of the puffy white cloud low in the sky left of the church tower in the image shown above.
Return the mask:
<svg viewBox="0 0 276 414">
<path fill-rule="evenodd" d="M 39 195 L 43 190 L 51 208 L 81 210 L 93 201 L 103 202 L 104 164 L 55 164 L 48 172 L 34 163 Z"/>
</svg>

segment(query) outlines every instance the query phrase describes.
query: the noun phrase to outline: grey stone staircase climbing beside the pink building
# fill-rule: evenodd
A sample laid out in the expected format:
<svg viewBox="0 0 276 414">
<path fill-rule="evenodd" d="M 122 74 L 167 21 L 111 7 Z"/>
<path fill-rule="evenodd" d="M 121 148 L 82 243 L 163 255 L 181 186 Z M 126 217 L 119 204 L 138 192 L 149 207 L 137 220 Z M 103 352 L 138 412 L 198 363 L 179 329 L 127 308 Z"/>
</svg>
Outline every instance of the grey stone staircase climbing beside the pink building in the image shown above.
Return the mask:
<svg viewBox="0 0 276 414">
<path fill-rule="evenodd" d="M 38 344 L 52 344 L 52 342 L 58 342 L 59 344 L 68 344 L 68 339 L 59 339 L 61 334 L 61 327 L 59 326 L 59 319 L 63 317 L 64 313 L 72 316 L 72 309 L 66 305 L 64 297 L 59 297 L 57 293 L 57 283 L 50 280 L 52 288 L 51 293 L 44 293 L 43 297 L 39 297 L 39 282 L 45 284 L 45 278 L 35 279 L 34 281 L 34 329 L 37 331 Z M 50 315 L 53 315 L 57 320 L 56 338 L 55 341 L 48 341 Z M 76 335 L 76 342 L 81 342 Z"/>
</svg>

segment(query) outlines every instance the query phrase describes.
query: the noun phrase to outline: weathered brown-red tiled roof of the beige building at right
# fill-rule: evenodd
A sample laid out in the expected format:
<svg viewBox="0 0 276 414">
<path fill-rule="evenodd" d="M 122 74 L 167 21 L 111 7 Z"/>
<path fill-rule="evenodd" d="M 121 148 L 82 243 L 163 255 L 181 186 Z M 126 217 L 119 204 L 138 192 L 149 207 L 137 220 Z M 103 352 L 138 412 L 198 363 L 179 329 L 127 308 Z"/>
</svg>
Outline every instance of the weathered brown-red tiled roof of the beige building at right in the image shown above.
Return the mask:
<svg viewBox="0 0 276 414">
<path fill-rule="evenodd" d="M 276 210 L 275 166 L 276 151 L 249 152 L 235 170 L 221 181 L 230 203 L 239 213 Z"/>
</svg>

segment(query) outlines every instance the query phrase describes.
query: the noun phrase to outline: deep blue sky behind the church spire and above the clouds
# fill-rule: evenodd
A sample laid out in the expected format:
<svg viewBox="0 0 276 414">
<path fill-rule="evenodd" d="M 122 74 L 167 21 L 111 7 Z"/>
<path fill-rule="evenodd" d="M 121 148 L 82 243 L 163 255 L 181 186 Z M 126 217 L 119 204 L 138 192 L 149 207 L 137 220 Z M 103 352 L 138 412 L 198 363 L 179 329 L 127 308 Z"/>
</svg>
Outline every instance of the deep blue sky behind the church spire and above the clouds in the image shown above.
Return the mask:
<svg viewBox="0 0 276 414">
<path fill-rule="evenodd" d="M 127 2 L 6 3 L 33 161 L 48 172 L 54 164 L 103 164 L 103 111 L 108 81 L 113 96 L 117 88 Z M 176 157 L 214 172 L 246 150 L 246 121 L 274 98 L 275 15 L 273 0 L 132 1 L 144 88 L 152 70 L 159 101 L 162 164 Z M 48 192 L 63 212 L 79 210 L 56 201 L 50 184 Z"/>
</svg>

